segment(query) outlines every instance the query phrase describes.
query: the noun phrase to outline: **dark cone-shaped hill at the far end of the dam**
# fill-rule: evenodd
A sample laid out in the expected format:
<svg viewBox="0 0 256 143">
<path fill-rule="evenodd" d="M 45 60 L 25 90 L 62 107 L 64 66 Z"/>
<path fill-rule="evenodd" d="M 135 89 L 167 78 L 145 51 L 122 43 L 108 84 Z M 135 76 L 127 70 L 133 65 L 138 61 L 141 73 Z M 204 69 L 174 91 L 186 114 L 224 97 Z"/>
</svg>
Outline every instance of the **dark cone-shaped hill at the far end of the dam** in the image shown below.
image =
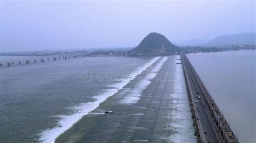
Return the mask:
<svg viewBox="0 0 256 143">
<path fill-rule="evenodd" d="M 179 52 L 176 45 L 173 45 L 164 35 L 152 32 L 130 52 L 130 56 L 160 56 L 175 52 Z"/>
</svg>

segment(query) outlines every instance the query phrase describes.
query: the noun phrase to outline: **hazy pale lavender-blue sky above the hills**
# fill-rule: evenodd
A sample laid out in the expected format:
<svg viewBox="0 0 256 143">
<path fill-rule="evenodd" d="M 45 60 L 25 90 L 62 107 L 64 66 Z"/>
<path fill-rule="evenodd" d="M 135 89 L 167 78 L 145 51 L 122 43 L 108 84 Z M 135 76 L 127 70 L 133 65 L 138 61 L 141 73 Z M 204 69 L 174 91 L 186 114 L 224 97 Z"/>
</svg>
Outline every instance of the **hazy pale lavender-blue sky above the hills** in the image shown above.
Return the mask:
<svg viewBox="0 0 256 143">
<path fill-rule="evenodd" d="M 134 47 L 255 32 L 255 1 L 1 1 L 1 52 Z"/>
</svg>

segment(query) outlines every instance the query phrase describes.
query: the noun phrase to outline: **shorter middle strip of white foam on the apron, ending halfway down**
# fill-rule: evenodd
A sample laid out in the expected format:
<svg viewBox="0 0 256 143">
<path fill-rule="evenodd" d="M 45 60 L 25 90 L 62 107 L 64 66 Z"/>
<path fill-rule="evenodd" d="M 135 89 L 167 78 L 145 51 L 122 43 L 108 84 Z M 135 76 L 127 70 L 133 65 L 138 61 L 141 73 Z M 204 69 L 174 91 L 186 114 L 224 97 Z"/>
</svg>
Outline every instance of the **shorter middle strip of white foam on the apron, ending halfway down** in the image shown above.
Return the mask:
<svg viewBox="0 0 256 143">
<path fill-rule="evenodd" d="M 123 99 L 120 100 L 121 104 L 134 104 L 137 103 L 142 96 L 142 92 L 144 89 L 146 89 L 147 86 L 150 85 L 151 80 L 156 77 L 157 72 L 161 69 L 161 67 L 164 65 L 165 61 L 168 59 L 167 56 L 165 56 L 163 59 L 157 63 L 155 67 L 151 67 L 152 70 L 149 74 L 146 75 L 142 80 L 136 84 L 136 88 L 131 89 Z"/>
</svg>

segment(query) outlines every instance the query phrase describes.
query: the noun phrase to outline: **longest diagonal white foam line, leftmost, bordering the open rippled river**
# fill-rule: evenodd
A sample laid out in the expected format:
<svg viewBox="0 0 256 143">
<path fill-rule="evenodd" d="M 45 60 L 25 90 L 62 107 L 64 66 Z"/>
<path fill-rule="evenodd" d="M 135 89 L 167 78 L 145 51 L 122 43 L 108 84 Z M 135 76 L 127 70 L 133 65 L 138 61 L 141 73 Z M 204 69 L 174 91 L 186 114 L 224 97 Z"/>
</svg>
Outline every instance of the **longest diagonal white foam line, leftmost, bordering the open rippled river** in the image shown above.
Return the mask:
<svg viewBox="0 0 256 143">
<path fill-rule="evenodd" d="M 128 78 L 123 79 L 121 82 L 109 85 L 109 87 L 113 87 L 113 89 L 105 90 L 103 94 L 99 94 L 98 96 L 93 97 L 95 99 L 94 102 L 83 103 L 78 106 L 72 107 L 75 111 L 73 115 L 59 115 L 60 120 L 56 127 L 48 130 L 44 130 L 39 135 L 41 138 L 39 141 L 41 142 L 54 142 L 55 139 L 70 127 L 73 126 L 78 120 L 80 120 L 83 116 L 90 113 L 92 110 L 96 109 L 100 103 L 104 102 L 108 97 L 116 94 L 118 90 L 122 89 L 127 83 L 133 80 L 137 75 L 141 74 L 143 70 L 149 68 L 154 62 L 156 62 L 160 57 L 153 58 L 149 62 L 147 62 L 144 66 L 138 68 L 134 71 Z M 164 58 L 165 60 L 167 58 Z M 163 59 L 161 60 L 163 61 Z M 158 69 L 159 70 L 159 69 Z M 120 80 L 119 80 L 120 81 Z"/>
</svg>

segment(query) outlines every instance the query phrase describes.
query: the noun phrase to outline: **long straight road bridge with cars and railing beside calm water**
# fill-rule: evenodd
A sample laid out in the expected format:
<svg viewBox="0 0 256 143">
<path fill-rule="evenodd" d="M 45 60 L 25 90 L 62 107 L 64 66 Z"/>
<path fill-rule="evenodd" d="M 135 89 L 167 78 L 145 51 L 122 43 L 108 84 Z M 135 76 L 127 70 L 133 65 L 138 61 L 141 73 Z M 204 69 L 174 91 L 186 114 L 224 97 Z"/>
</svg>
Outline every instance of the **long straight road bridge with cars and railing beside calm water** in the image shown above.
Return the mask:
<svg viewBox="0 0 256 143">
<path fill-rule="evenodd" d="M 185 53 L 180 56 L 197 142 L 239 142 Z"/>
</svg>

